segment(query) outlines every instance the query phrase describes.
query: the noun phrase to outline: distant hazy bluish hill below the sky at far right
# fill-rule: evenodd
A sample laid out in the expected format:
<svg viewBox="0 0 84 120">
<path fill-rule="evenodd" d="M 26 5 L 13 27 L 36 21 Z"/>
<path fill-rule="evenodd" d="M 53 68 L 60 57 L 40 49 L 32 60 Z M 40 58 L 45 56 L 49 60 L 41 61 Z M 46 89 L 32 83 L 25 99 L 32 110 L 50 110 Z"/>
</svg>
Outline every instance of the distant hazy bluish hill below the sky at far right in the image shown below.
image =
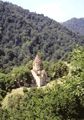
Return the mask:
<svg viewBox="0 0 84 120">
<path fill-rule="evenodd" d="M 63 22 L 62 25 L 75 31 L 77 34 L 84 35 L 84 18 L 72 18 L 66 22 Z"/>
</svg>

